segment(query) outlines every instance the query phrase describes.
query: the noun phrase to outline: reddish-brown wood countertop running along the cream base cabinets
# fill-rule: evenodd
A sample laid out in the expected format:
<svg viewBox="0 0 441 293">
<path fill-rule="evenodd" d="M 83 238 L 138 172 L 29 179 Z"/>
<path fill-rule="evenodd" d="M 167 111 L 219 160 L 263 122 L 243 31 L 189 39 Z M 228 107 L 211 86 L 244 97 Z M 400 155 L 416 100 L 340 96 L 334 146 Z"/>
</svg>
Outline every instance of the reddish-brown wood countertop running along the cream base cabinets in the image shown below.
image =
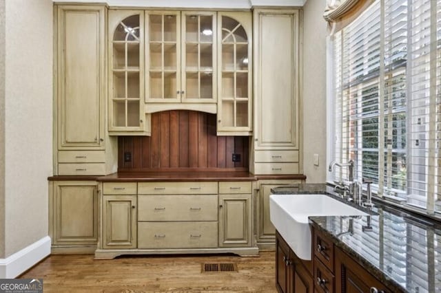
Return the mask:
<svg viewBox="0 0 441 293">
<path fill-rule="evenodd" d="M 49 181 L 99 181 L 99 182 L 158 182 L 158 181 L 256 181 L 256 180 L 305 180 L 299 175 L 254 175 L 248 172 L 117 172 L 105 176 L 51 176 Z"/>
</svg>

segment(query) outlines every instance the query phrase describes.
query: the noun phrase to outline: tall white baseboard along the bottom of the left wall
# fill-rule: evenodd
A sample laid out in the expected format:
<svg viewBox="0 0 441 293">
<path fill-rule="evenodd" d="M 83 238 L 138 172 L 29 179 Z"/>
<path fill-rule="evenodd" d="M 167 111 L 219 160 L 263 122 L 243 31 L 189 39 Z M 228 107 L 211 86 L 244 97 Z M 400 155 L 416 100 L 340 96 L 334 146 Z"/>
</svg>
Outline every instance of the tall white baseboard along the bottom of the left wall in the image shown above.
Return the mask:
<svg viewBox="0 0 441 293">
<path fill-rule="evenodd" d="M 6 259 L 0 259 L 0 279 L 12 279 L 19 276 L 49 254 L 50 237 L 46 236 Z"/>
</svg>

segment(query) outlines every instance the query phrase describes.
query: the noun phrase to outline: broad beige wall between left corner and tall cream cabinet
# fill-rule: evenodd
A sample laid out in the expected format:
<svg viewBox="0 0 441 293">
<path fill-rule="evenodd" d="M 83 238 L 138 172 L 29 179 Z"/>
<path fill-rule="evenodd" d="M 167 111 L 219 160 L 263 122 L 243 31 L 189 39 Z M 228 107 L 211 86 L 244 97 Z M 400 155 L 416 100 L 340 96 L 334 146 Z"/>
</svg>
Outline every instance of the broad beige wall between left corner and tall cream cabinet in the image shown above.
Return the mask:
<svg viewBox="0 0 441 293">
<path fill-rule="evenodd" d="M 48 235 L 47 177 L 52 175 L 51 0 L 6 0 L 5 96 L 4 257 L 8 257 Z"/>
</svg>

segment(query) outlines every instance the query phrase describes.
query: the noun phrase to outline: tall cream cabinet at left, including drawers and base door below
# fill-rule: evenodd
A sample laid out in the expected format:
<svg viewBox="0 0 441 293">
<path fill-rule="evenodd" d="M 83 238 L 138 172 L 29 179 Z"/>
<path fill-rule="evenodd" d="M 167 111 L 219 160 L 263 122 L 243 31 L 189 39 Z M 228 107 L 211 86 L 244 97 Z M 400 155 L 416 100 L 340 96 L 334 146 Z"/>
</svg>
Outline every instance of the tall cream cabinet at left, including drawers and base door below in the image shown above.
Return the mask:
<svg viewBox="0 0 441 293">
<path fill-rule="evenodd" d="M 54 175 L 61 177 L 49 182 L 52 253 L 96 248 L 99 188 L 87 176 L 117 168 L 117 141 L 105 125 L 106 17 L 105 6 L 54 5 Z"/>
</svg>

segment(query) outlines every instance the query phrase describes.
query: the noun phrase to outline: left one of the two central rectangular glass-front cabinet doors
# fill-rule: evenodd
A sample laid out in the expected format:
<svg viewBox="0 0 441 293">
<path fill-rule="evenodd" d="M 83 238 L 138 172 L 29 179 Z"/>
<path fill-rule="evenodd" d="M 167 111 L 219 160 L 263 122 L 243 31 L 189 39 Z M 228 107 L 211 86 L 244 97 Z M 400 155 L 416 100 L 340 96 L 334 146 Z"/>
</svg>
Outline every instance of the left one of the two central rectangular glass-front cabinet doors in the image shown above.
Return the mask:
<svg viewBox="0 0 441 293">
<path fill-rule="evenodd" d="M 181 101 L 181 12 L 145 12 L 146 102 Z"/>
</svg>

